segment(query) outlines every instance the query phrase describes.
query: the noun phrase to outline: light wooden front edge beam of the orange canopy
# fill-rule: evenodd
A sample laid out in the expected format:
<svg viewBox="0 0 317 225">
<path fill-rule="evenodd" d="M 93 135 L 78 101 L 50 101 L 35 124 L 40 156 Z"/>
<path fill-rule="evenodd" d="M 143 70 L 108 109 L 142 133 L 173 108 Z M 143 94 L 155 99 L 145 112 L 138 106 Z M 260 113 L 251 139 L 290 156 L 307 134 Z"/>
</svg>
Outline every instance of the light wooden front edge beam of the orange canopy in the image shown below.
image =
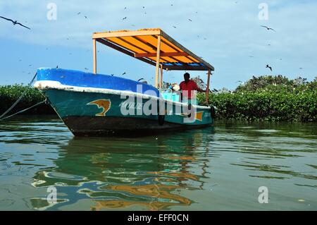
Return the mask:
<svg viewBox="0 0 317 225">
<path fill-rule="evenodd" d="M 142 35 L 160 35 L 161 30 L 128 30 L 119 32 L 94 32 L 92 38 L 106 37 L 126 37 L 126 36 L 142 36 Z"/>
</svg>

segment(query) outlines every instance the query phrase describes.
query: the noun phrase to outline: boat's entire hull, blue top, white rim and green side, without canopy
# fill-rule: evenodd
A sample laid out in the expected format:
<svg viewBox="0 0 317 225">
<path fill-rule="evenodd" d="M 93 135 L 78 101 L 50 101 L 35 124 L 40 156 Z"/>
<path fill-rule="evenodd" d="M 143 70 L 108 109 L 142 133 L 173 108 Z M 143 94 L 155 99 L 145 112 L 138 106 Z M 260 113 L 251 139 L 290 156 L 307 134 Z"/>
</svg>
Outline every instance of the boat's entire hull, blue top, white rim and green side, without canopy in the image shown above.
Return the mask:
<svg viewBox="0 0 317 225">
<path fill-rule="evenodd" d="M 185 114 L 187 104 L 166 101 L 155 87 L 133 80 L 66 70 L 39 72 L 36 87 L 74 135 L 148 134 L 213 123 L 210 107 Z M 71 78 L 77 75 L 82 77 L 75 82 Z M 86 79 L 94 80 L 93 84 Z M 165 111 L 158 115 L 160 107 Z"/>
</svg>

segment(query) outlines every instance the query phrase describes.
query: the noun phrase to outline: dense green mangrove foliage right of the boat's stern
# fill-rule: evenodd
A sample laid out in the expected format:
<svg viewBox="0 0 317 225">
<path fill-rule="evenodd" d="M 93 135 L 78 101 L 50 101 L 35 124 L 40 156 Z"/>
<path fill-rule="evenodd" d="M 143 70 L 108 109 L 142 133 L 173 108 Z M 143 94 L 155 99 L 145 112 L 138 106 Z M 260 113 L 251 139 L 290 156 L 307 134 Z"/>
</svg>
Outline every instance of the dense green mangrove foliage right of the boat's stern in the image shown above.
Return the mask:
<svg viewBox="0 0 317 225">
<path fill-rule="evenodd" d="M 204 102 L 204 94 L 199 94 Z M 209 104 L 223 119 L 248 121 L 317 121 L 317 80 L 282 76 L 252 78 L 234 92 L 211 93 Z"/>
</svg>

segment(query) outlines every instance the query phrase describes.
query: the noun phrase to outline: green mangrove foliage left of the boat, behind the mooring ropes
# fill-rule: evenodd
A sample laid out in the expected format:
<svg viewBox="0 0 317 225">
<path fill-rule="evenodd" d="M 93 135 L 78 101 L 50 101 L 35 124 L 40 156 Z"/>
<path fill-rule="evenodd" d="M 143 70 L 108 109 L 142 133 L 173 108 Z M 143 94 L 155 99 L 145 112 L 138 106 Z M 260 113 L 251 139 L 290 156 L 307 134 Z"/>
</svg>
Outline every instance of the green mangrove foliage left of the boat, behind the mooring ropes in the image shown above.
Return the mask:
<svg viewBox="0 0 317 225">
<path fill-rule="evenodd" d="M 0 86 L 0 113 L 2 114 L 10 108 L 27 88 L 29 87 L 24 85 Z M 23 99 L 21 99 L 8 115 L 26 109 L 27 107 L 32 107 L 32 105 L 42 102 L 44 99 L 44 96 L 38 90 L 30 87 Z M 42 104 L 39 107 L 30 109 L 30 111 L 26 111 L 25 114 L 55 114 L 55 112 L 49 105 Z"/>
</svg>

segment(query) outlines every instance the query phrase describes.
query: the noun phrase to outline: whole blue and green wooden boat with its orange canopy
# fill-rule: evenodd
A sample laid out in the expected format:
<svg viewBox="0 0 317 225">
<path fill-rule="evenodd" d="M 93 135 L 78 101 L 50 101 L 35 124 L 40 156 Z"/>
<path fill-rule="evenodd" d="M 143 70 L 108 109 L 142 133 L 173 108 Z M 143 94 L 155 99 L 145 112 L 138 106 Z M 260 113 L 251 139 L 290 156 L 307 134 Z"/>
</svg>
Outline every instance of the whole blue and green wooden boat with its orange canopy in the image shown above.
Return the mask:
<svg viewBox="0 0 317 225">
<path fill-rule="evenodd" d="M 179 92 L 162 90 L 165 71 L 208 71 L 213 66 L 161 29 L 94 32 L 93 72 L 39 68 L 35 87 L 74 135 L 129 135 L 210 126 L 214 108 L 182 102 Z M 96 42 L 156 67 L 155 86 L 97 74 Z M 209 92 L 206 91 L 206 99 Z"/>
</svg>

